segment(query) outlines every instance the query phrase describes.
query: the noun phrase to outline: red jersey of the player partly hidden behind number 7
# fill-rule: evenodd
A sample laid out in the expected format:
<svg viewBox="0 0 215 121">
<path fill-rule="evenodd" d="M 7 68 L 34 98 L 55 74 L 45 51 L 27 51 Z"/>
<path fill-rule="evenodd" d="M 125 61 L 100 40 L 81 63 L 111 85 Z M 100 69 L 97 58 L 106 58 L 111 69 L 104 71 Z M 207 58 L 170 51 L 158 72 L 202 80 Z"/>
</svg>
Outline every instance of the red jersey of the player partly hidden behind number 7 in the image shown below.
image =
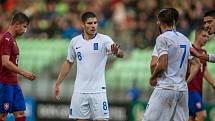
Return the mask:
<svg viewBox="0 0 215 121">
<path fill-rule="evenodd" d="M 194 45 L 193 45 L 194 47 Z M 195 48 L 195 47 L 194 47 Z M 204 49 L 197 49 L 195 48 L 199 53 L 207 53 Z M 205 67 L 207 66 L 207 62 L 205 60 L 200 59 L 200 69 L 194 79 L 188 83 L 188 90 L 189 91 L 197 91 L 202 94 L 202 83 L 203 83 L 203 76 Z"/>
</svg>

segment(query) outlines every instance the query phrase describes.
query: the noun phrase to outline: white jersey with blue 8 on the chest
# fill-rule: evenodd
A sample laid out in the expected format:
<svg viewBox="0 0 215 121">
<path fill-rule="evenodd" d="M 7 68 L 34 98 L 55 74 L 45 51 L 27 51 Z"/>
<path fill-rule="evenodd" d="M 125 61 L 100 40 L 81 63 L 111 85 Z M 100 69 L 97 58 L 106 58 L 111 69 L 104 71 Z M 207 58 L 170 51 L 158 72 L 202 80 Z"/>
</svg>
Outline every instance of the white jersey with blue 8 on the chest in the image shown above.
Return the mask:
<svg viewBox="0 0 215 121">
<path fill-rule="evenodd" d="M 106 92 L 105 65 L 113 43 L 109 36 L 99 33 L 91 40 L 85 40 L 83 35 L 71 40 L 67 60 L 77 62 L 74 92 Z"/>
</svg>

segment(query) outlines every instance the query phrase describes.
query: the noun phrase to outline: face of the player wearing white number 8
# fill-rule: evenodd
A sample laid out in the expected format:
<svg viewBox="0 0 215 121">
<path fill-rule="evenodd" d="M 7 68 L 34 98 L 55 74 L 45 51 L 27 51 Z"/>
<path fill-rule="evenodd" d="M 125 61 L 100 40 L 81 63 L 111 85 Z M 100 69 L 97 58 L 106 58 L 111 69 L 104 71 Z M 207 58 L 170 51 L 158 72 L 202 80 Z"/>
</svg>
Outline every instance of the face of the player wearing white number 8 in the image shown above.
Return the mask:
<svg viewBox="0 0 215 121">
<path fill-rule="evenodd" d="M 90 36 L 95 35 L 97 31 L 97 25 L 97 18 L 88 18 L 83 25 L 85 33 Z"/>
</svg>

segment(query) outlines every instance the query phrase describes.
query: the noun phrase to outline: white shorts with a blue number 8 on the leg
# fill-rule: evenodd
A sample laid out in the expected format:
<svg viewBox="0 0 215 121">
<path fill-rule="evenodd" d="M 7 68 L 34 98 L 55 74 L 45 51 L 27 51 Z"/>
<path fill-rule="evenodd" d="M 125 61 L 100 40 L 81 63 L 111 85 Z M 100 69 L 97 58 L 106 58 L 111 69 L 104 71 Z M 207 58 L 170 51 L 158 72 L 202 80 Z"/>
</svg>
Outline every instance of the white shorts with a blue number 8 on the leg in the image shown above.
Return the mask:
<svg viewBox="0 0 215 121">
<path fill-rule="evenodd" d="M 109 109 L 106 92 L 73 93 L 69 118 L 108 120 Z"/>
</svg>

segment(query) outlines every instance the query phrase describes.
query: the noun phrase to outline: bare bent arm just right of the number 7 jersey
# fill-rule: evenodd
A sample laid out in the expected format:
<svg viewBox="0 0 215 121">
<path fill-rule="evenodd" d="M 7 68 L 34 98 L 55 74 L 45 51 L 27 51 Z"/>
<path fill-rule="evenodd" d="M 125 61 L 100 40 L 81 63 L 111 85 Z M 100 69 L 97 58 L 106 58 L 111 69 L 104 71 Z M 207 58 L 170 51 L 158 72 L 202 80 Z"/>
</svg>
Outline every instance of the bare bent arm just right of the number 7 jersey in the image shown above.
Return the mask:
<svg viewBox="0 0 215 121">
<path fill-rule="evenodd" d="M 187 78 L 187 83 L 189 83 L 193 78 L 196 76 L 200 69 L 200 61 L 198 58 L 193 58 L 192 60 L 189 61 L 189 66 L 187 69 L 188 78 Z"/>
</svg>

